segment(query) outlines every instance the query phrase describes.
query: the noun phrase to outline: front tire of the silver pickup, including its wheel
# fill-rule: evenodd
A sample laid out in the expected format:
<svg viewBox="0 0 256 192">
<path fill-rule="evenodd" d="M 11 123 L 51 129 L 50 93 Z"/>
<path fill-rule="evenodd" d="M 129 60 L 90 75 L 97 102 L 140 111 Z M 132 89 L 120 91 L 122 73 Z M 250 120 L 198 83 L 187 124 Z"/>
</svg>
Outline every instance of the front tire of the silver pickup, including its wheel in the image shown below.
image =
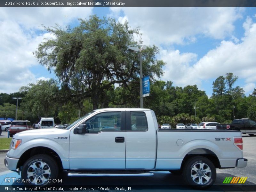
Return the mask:
<svg viewBox="0 0 256 192">
<path fill-rule="evenodd" d="M 29 180 L 29 182 L 25 182 L 26 185 L 49 185 L 51 183 L 48 180 L 57 179 L 58 172 L 58 165 L 51 156 L 35 155 L 24 163 L 21 178 L 25 181 Z"/>
</svg>

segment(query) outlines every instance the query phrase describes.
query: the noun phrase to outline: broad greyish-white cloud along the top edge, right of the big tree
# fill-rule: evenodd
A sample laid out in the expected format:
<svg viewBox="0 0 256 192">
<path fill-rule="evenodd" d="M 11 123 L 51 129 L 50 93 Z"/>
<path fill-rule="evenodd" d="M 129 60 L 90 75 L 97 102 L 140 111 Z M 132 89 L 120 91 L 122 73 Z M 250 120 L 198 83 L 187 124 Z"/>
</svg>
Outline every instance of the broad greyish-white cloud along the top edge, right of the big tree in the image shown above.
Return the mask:
<svg viewBox="0 0 256 192">
<path fill-rule="evenodd" d="M 156 45 L 195 42 L 196 35 L 223 39 L 232 34 L 233 23 L 242 17 L 243 12 L 241 8 L 230 7 L 126 7 L 110 10 L 111 16 L 120 22 L 127 19 L 133 28 L 140 26 L 145 44 Z M 121 11 L 124 16 L 119 16 Z"/>
</svg>

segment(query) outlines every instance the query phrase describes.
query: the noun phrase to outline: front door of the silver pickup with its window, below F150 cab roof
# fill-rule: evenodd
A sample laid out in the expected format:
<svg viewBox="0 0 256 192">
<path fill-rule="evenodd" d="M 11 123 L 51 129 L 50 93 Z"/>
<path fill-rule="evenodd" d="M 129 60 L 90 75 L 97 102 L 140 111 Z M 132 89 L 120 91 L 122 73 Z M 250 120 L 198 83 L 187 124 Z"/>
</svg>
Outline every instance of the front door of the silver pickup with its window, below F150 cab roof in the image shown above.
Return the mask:
<svg viewBox="0 0 256 192">
<path fill-rule="evenodd" d="M 70 132 L 70 169 L 125 169 L 125 111 L 100 112 L 83 124 L 86 134 Z"/>
</svg>

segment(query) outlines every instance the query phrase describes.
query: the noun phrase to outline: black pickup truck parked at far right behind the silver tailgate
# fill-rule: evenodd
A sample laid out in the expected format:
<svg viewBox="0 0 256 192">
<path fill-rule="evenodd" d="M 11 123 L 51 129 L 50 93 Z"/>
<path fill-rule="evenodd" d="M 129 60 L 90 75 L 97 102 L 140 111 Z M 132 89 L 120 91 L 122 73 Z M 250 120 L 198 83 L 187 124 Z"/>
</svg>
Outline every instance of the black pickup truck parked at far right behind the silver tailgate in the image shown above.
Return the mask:
<svg viewBox="0 0 256 192">
<path fill-rule="evenodd" d="M 236 130 L 250 136 L 256 134 L 256 122 L 250 119 L 234 119 L 231 124 L 218 124 L 217 129 Z"/>
</svg>

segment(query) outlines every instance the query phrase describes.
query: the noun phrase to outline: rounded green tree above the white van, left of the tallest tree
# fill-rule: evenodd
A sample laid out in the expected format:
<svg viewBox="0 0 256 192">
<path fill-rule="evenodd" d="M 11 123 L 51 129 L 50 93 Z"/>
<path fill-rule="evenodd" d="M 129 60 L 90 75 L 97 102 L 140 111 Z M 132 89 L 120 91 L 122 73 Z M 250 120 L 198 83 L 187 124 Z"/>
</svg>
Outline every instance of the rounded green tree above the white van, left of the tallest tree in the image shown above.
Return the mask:
<svg viewBox="0 0 256 192">
<path fill-rule="evenodd" d="M 29 84 L 20 88 L 21 92 L 26 92 L 23 98 L 27 111 L 31 111 L 35 116 L 52 116 L 55 112 L 58 101 L 58 85 L 56 81 L 40 80 L 36 84 Z"/>
</svg>

